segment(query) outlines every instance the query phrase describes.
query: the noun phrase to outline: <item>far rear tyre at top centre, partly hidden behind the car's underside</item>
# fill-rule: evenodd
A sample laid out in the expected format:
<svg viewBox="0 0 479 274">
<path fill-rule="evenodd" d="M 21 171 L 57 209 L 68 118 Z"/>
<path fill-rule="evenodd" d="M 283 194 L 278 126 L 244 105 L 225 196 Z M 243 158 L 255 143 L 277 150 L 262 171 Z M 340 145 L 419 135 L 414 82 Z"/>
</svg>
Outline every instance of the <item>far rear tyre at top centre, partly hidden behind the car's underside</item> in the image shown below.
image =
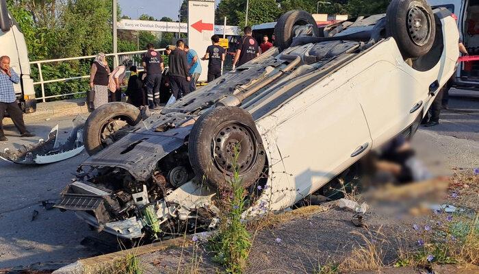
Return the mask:
<svg viewBox="0 0 479 274">
<path fill-rule="evenodd" d="M 287 49 L 293 42 L 294 27 L 297 25 L 313 25 L 313 36 L 320 36 L 320 29 L 316 25 L 316 21 L 309 12 L 304 10 L 291 10 L 281 15 L 274 27 L 274 39 L 276 46 L 281 51 Z"/>
</svg>

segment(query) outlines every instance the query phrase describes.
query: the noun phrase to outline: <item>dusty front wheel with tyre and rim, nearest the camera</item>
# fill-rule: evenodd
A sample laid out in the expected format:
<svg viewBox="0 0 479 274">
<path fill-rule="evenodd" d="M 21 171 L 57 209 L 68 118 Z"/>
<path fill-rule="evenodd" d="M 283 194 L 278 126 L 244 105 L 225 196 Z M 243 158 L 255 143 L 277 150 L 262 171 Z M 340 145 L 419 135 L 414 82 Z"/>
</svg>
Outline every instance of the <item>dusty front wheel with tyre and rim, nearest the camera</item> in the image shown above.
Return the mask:
<svg viewBox="0 0 479 274">
<path fill-rule="evenodd" d="M 242 186 L 255 184 L 263 172 L 266 153 L 253 117 L 242 108 L 222 106 L 205 112 L 194 123 L 188 153 L 194 173 L 220 190 L 231 189 L 234 147 Z"/>
</svg>

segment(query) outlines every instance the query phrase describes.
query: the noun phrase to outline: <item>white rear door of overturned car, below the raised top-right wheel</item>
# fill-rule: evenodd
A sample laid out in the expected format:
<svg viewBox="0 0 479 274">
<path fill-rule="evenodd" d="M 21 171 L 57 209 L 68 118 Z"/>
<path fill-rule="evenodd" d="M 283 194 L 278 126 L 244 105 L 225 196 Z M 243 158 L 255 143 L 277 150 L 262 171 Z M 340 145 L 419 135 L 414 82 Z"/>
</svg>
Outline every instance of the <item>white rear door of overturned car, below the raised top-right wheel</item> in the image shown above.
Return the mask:
<svg viewBox="0 0 479 274">
<path fill-rule="evenodd" d="M 350 84 L 364 111 L 373 140 L 372 147 L 375 148 L 417 119 L 428 96 L 428 89 L 424 86 L 428 85 L 420 84 L 406 72 L 406 68 L 398 66 L 394 58 L 363 58 L 363 62 L 371 65 L 352 77 Z M 398 58 L 398 62 L 404 62 L 400 53 Z"/>
</svg>

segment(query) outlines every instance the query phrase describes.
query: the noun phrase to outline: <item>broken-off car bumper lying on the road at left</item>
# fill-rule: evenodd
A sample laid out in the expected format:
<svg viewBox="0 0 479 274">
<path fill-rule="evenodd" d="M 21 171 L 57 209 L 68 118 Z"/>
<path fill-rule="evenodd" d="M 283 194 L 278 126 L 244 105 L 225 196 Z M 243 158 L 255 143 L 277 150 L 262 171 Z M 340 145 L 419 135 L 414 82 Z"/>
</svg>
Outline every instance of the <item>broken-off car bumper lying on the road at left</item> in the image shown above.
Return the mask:
<svg viewBox="0 0 479 274">
<path fill-rule="evenodd" d="M 51 129 L 48 139 L 40 139 L 36 145 L 23 145 L 21 149 L 0 152 L 0 158 L 15 164 L 51 164 L 72 158 L 83 151 L 83 125 L 85 119 L 73 119 L 73 130 L 63 144 L 58 144 L 58 125 Z"/>
</svg>

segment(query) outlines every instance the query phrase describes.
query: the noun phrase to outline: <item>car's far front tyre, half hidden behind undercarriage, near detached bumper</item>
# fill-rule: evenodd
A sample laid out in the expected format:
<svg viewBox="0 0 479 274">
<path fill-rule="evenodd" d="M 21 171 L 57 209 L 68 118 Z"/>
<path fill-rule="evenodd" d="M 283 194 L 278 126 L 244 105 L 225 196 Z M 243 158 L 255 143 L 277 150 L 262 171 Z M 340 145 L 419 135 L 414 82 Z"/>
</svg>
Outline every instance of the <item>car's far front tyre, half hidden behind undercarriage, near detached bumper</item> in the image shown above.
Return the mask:
<svg viewBox="0 0 479 274">
<path fill-rule="evenodd" d="M 118 132 L 118 129 L 137 125 L 140 121 L 140 110 L 129 103 L 113 102 L 96 108 L 83 127 L 83 143 L 88 155 L 99 153 L 109 145 L 105 142 L 105 134 L 109 136 Z"/>
</svg>

